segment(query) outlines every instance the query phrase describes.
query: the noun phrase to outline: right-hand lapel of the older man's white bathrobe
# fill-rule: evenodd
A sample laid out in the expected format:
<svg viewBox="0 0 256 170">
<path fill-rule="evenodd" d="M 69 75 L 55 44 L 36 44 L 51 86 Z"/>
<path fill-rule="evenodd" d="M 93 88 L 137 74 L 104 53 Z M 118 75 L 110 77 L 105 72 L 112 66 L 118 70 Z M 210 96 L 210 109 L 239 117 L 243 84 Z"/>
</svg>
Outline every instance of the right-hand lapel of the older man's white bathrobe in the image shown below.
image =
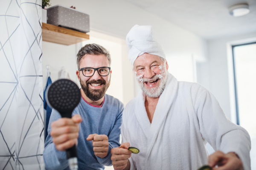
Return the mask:
<svg viewBox="0 0 256 170">
<path fill-rule="evenodd" d="M 164 121 L 166 119 L 167 114 L 169 113 L 169 109 L 172 105 L 172 102 L 174 101 L 175 96 L 177 95 L 177 86 L 178 86 L 177 79 L 173 77 L 172 74 L 168 74 L 165 89 L 163 93 L 160 95 L 160 98 L 157 102 L 157 107 L 154 112 L 154 117 L 150 126 L 150 130 L 147 129 L 148 131 L 150 131 L 150 133 L 148 134 L 149 137 L 147 137 L 148 140 L 147 140 L 147 153 L 146 153 L 145 165 L 148 164 L 147 163 L 148 157 L 151 154 L 152 147 L 156 145 L 155 141 L 157 139 L 157 135 L 161 127 L 164 125 Z M 145 110 L 144 103 L 143 103 L 143 108 Z M 146 120 L 148 120 L 148 116 L 146 113 L 145 115 L 147 118 Z M 146 122 L 145 118 L 144 118 L 144 122 Z M 155 146 L 155 147 L 158 147 L 158 146 Z"/>
</svg>

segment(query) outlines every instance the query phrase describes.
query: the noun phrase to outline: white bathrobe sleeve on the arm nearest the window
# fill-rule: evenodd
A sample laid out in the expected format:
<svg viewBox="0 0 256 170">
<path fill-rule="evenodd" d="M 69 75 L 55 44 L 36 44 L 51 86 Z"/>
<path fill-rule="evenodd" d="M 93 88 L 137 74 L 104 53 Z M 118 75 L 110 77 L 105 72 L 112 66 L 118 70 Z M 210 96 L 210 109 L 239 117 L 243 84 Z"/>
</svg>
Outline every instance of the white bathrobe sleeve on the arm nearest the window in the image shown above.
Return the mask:
<svg viewBox="0 0 256 170">
<path fill-rule="evenodd" d="M 207 89 L 201 87 L 193 91 L 202 137 L 214 150 L 224 153 L 235 152 L 243 162 L 244 170 L 250 170 L 250 136 L 247 131 L 233 124 L 222 111 L 217 99 Z"/>
</svg>

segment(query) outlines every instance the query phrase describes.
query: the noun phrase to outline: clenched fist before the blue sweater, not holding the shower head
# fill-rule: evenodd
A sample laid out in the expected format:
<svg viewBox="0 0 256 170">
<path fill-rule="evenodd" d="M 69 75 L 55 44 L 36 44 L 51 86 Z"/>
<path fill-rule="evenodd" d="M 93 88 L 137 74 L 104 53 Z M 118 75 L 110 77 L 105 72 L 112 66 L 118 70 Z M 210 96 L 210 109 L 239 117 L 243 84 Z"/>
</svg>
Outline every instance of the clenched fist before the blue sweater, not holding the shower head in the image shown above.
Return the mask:
<svg viewBox="0 0 256 170">
<path fill-rule="evenodd" d="M 95 156 L 105 158 L 108 155 L 108 136 L 90 134 L 87 137 L 87 141 L 93 142 L 93 151 Z"/>
</svg>

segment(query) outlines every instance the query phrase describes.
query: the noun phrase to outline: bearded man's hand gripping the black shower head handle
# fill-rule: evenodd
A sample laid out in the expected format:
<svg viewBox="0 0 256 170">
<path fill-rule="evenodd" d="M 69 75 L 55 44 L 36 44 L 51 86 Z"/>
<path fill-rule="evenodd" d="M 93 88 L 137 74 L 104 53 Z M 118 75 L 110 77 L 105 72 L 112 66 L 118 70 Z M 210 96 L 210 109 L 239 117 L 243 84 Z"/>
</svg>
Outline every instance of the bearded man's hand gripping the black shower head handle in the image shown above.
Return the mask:
<svg viewBox="0 0 256 170">
<path fill-rule="evenodd" d="M 52 122 L 50 135 L 57 150 L 67 150 L 77 144 L 80 122 L 82 122 L 82 118 L 78 114 L 71 119 L 61 118 Z"/>
</svg>

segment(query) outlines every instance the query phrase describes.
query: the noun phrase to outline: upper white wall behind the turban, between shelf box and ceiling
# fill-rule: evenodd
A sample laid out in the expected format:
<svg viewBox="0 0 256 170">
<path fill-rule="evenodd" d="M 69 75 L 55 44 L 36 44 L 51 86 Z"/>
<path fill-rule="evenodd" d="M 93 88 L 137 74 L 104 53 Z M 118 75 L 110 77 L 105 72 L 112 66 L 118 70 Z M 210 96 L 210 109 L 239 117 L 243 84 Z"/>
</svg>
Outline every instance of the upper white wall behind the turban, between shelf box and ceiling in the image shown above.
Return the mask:
<svg viewBox="0 0 256 170">
<path fill-rule="evenodd" d="M 151 25 L 167 57 L 193 55 L 200 61 L 206 59 L 205 40 L 123 0 L 51 0 L 51 4 L 76 6 L 78 11 L 90 14 L 91 30 L 122 39 L 135 24 Z"/>
</svg>

